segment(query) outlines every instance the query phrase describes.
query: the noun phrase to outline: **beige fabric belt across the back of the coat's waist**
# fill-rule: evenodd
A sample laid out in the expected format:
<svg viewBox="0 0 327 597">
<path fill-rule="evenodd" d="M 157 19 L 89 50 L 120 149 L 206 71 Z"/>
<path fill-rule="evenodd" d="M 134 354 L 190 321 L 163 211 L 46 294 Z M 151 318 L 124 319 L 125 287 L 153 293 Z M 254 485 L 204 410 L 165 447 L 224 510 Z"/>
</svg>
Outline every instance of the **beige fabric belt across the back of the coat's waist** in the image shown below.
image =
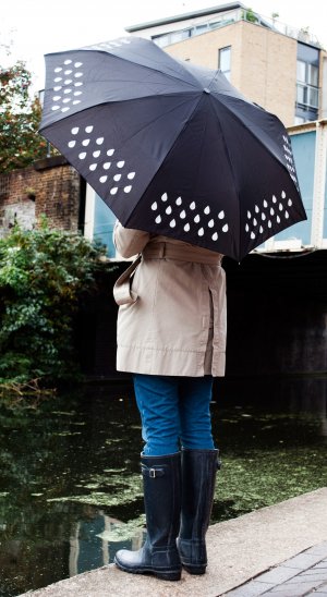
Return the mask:
<svg viewBox="0 0 327 597">
<path fill-rule="evenodd" d="M 142 252 L 144 259 L 175 259 L 180 261 L 192 261 L 195 264 L 206 264 L 220 266 L 222 255 L 206 249 L 199 249 L 192 245 L 182 246 L 172 243 L 148 243 Z"/>
</svg>

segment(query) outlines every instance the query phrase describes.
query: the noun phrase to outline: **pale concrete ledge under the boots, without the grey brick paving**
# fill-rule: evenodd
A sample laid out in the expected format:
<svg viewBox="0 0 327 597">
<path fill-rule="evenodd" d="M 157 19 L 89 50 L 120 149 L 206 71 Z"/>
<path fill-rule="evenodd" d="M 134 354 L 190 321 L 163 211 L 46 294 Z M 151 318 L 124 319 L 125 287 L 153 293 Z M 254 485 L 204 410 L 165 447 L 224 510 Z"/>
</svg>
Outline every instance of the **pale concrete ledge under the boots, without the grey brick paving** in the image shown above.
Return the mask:
<svg viewBox="0 0 327 597">
<path fill-rule="evenodd" d="M 218 597 L 327 537 L 327 487 L 210 526 L 204 576 L 168 583 L 113 564 L 28 593 L 35 597 Z M 24 594 L 27 595 L 27 594 Z"/>
</svg>

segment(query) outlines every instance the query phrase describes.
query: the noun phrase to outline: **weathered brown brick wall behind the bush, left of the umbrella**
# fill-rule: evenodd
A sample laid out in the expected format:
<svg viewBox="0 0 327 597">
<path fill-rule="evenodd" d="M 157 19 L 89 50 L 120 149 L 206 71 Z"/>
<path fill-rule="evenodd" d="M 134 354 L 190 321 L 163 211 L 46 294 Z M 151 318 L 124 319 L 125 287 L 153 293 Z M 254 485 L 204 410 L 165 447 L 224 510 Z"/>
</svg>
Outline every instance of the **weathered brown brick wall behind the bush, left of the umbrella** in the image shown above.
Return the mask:
<svg viewBox="0 0 327 597">
<path fill-rule="evenodd" d="M 52 228 L 77 230 L 81 178 L 61 156 L 0 174 L 0 236 L 17 221 L 33 228 L 45 214 Z"/>
</svg>

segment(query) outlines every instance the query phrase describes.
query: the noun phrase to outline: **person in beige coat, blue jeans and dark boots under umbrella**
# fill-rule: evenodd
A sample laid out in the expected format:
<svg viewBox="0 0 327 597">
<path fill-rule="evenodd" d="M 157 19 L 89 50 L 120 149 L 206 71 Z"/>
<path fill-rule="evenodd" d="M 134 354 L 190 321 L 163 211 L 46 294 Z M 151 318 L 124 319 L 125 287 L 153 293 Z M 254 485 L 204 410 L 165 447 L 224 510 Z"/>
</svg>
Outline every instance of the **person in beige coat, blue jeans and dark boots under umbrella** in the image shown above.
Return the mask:
<svg viewBox="0 0 327 597">
<path fill-rule="evenodd" d="M 119 222 L 113 237 L 123 257 L 141 254 L 114 296 L 117 369 L 133 374 L 145 442 L 147 527 L 142 549 L 120 550 L 114 561 L 125 572 L 178 581 L 182 566 L 204 574 L 207 565 L 218 467 L 209 403 L 213 377 L 225 375 L 222 255 Z"/>
</svg>

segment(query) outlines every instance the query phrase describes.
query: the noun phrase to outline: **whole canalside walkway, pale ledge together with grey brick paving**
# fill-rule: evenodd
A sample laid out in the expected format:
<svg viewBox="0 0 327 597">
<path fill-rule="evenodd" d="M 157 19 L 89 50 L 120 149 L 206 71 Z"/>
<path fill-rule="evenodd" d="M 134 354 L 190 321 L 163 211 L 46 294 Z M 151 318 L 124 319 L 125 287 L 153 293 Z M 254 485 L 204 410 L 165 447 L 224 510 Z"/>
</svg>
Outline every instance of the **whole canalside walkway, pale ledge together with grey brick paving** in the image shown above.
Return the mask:
<svg viewBox="0 0 327 597">
<path fill-rule="evenodd" d="M 204 576 L 175 583 L 104 566 L 33 597 L 327 597 L 327 487 L 215 524 Z M 27 594 L 25 594 L 27 595 Z"/>
</svg>

